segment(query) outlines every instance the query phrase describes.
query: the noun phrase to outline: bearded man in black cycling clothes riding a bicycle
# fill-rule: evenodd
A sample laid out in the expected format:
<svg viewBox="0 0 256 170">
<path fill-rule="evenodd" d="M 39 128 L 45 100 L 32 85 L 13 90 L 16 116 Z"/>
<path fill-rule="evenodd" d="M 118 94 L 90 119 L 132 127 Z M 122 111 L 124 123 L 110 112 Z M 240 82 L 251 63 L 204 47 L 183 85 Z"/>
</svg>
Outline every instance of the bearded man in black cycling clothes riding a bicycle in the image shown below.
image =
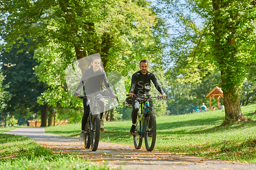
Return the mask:
<svg viewBox="0 0 256 170">
<path fill-rule="evenodd" d="M 140 61 L 140 70 L 135 72 L 132 76 L 132 83 L 131 88 L 129 92 L 129 96 L 133 97 L 135 94 L 144 95 L 145 93 L 150 92 L 150 86 L 151 86 L 151 80 L 153 84 L 155 85 L 156 89 L 162 94 L 163 99 L 166 98 L 166 94 L 163 92 L 162 88 L 157 83 L 157 79 L 154 74 L 151 72 L 148 72 L 148 62 L 147 60 L 141 60 Z M 136 122 L 137 122 L 137 113 L 139 111 L 139 101 L 132 99 L 132 122 L 133 125 L 130 130 L 130 134 L 134 135 L 135 128 L 136 128 Z M 150 103 L 150 106 L 153 106 L 153 103 Z"/>
</svg>

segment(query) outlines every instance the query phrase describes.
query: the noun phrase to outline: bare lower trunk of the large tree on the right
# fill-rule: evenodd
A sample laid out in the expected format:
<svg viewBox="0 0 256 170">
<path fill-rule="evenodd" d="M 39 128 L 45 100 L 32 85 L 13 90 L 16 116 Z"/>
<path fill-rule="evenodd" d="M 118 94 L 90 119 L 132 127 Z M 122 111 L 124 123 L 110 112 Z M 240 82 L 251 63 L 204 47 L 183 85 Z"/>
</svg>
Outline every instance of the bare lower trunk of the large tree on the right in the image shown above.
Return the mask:
<svg viewBox="0 0 256 170">
<path fill-rule="evenodd" d="M 232 95 L 229 91 L 223 92 L 224 97 L 224 107 L 225 107 L 225 120 L 222 123 L 223 126 L 228 125 L 232 122 L 240 122 L 244 120 L 244 115 L 241 112 L 239 98 L 235 101 L 231 100 Z"/>
</svg>

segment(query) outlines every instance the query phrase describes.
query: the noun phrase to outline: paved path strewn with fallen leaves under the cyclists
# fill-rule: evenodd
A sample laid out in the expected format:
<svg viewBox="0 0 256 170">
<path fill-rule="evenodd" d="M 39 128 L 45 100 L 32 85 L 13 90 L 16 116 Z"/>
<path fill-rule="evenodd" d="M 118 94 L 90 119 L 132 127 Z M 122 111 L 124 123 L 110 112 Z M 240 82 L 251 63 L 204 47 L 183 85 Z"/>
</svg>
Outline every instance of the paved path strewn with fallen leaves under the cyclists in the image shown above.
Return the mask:
<svg viewBox="0 0 256 170">
<path fill-rule="evenodd" d="M 75 152 L 85 159 L 122 169 L 256 169 L 255 164 L 211 160 L 169 152 L 147 152 L 145 149 L 135 150 L 129 145 L 102 141 L 99 142 L 98 150 L 93 152 L 84 149 L 84 143 L 77 138 L 47 134 L 44 128 L 17 128 L 6 133 L 28 136 L 56 152 Z"/>
</svg>

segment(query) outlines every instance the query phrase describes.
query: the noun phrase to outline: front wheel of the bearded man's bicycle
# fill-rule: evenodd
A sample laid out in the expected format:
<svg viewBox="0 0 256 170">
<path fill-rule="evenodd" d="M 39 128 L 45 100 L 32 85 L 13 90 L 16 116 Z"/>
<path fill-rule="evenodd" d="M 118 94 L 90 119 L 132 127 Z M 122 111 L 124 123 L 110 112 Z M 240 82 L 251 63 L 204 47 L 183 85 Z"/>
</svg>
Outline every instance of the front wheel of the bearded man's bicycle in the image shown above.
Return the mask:
<svg viewBox="0 0 256 170">
<path fill-rule="evenodd" d="M 154 112 L 146 113 L 145 121 L 145 147 L 147 151 L 153 151 L 157 137 L 157 123 Z"/>
</svg>

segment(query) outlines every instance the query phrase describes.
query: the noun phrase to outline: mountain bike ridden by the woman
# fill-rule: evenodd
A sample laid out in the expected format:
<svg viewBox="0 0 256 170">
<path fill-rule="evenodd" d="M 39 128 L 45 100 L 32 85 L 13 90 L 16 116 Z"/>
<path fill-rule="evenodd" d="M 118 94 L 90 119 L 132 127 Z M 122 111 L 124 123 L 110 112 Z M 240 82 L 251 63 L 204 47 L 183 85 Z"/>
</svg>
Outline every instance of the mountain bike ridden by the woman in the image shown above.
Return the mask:
<svg viewBox="0 0 256 170">
<path fill-rule="evenodd" d="M 111 99 L 110 96 L 96 96 L 96 95 L 79 95 L 79 98 L 89 98 L 90 99 L 90 115 L 86 123 L 86 129 L 84 133 L 86 135 L 86 140 L 84 140 L 84 147 L 89 149 L 91 146 L 92 151 L 98 149 L 99 135 L 100 135 L 100 107 L 98 105 L 98 100 Z"/>
</svg>

